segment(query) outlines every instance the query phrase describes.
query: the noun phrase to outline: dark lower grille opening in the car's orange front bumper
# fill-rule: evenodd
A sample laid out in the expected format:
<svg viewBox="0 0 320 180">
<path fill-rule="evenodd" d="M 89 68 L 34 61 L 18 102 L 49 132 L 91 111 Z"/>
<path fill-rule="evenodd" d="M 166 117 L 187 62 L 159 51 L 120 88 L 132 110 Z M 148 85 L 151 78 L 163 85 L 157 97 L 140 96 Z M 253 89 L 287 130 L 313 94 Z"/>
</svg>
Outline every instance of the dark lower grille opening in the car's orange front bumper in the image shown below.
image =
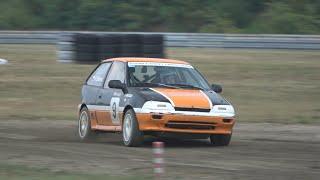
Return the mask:
<svg viewBox="0 0 320 180">
<path fill-rule="evenodd" d="M 166 127 L 173 128 L 173 129 L 212 130 L 215 128 L 215 123 L 192 122 L 192 121 L 169 121 L 166 124 Z"/>
</svg>

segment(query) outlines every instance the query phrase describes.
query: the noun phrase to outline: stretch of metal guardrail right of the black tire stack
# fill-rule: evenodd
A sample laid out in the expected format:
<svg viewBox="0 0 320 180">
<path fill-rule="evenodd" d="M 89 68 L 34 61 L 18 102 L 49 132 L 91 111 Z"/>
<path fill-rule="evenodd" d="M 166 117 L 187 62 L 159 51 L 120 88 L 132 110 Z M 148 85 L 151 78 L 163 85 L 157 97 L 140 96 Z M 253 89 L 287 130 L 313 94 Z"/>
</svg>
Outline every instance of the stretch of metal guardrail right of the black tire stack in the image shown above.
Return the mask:
<svg viewBox="0 0 320 180">
<path fill-rule="evenodd" d="M 317 35 L 167 34 L 169 47 L 320 49 Z"/>
</svg>

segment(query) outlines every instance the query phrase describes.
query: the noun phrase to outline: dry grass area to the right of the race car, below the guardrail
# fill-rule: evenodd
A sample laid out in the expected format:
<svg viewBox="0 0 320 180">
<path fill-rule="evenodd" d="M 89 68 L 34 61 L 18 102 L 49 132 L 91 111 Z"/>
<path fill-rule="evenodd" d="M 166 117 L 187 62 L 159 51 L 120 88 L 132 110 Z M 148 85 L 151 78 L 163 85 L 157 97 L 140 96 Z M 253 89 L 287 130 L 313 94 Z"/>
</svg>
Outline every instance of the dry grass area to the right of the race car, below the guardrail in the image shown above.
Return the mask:
<svg viewBox="0 0 320 180">
<path fill-rule="evenodd" d="M 320 52 L 170 49 L 222 84 L 239 121 L 319 123 Z"/>
</svg>

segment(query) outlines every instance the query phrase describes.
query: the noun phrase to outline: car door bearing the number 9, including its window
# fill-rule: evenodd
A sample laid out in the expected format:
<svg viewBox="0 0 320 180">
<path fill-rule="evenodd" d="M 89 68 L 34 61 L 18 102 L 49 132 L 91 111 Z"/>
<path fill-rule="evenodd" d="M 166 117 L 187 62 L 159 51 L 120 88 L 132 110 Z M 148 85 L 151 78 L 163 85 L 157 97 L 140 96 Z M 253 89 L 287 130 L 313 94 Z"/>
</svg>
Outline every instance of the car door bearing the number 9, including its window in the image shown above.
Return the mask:
<svg viewBox="0 0 320 180">
<path fill-rule="evenodd" d="M 110 80 L 120 80 L 125 83 L 125 77 L 125 63 L 113 62 L 104 86 L 98 92 L 97 105 L 105 107 L 105 111 L 100 111 L 97 114 L 98 124 L 106 126 L 120 125 L 121 117 L 119 111 L 121 107 L 119 107 L 119 104 L 123 101 L 124 93 L 121 89 L 109 88 L 108 84 Z"/>
</svg>

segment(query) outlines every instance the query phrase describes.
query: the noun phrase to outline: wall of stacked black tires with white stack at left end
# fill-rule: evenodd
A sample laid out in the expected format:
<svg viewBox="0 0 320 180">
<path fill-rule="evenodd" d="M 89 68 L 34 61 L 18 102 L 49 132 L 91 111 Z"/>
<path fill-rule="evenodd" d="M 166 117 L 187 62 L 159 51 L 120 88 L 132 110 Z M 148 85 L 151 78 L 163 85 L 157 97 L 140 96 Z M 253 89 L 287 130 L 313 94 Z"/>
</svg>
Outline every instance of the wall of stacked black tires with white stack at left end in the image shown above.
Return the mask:
<svg viewBox="0 0 320 180">
<path fill-rule="evenodd" d="M 58 61 L 89 64 L 113 57 L 163 58 L 163 41 L 160 34 L 61 34 Z"/>
</svg>

